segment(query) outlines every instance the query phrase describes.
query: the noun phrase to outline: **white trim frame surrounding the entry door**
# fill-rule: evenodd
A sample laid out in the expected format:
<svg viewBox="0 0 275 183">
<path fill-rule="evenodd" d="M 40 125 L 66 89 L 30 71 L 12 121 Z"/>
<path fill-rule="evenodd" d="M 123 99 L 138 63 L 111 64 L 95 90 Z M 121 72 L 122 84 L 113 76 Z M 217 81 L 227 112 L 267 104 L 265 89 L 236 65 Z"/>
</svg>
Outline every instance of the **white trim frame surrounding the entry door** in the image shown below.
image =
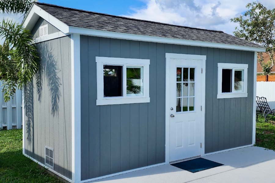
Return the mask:
<svg viewBox="0 0 275 183">
<path fill-rule="evenodd" d="M 169 102 L 169 95 L 170 95 L 170 60 L 171 59 L 188 59 L 188 60 L 202 60 L 203 65 L 203 73 L 202 73 L 202 80 L 205 81 L 205 65 L 206 65 L 206 56 L 205 55 L 187 55 L 187 54 L 177 54 L 177 53 L 165 53 L 166 57 L 166 84 L 165 84 L 165 163 L 169 164 L 169 143 L 170 143 L 170 102 Z M 201 91 L 205 91 L 205 82 L 202 82 L 202 88 Z M 204 126 L 205 126 L 205 92 L 202 92 L 201 95 L 201 105 L 202 105 L 202 111 L 201 111 L 201 151 L 200 156 L 204 156 Z"/>
</svg>

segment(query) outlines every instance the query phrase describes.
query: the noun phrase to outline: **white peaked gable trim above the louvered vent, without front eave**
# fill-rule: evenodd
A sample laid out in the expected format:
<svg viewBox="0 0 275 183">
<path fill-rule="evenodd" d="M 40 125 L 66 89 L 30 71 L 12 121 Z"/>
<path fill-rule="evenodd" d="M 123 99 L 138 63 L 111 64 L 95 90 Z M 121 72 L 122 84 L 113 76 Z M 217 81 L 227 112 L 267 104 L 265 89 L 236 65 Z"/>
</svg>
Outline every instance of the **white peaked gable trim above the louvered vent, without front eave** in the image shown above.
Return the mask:
<svg viewBox="0 0 275 183">
<path fill-rule="evenodd" d="M 32 4 L 30 10 L 28 11 L 27 15 L 23 20 L 23 27 L 26 29 L 32 29 L 39 16 L 42 17 L 44 20 L 52 24 L 54 27 L 62 31 L 63 33 L 68 33 L 69 27 L 63 23 L 62 21 L 58 20 L 54 16 L 47 13 L 45 10 L 41 9 L 39 6 Z"/>
</svg>

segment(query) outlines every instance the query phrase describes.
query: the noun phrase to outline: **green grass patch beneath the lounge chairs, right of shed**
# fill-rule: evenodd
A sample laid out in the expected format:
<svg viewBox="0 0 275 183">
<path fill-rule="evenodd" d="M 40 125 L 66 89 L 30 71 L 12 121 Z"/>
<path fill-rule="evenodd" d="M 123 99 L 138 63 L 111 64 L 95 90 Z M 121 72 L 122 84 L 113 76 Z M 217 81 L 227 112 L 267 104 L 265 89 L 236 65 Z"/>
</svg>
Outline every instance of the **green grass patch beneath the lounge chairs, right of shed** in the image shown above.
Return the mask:
<svg viewBox="0 0 275 183">
<path fill-rule="evenodd" d="M 256 123 L 256 146 L 275 151 L 275 117 L 270 117 L 266 123 L 264 118 L 258 118 Z"/>
</svg>

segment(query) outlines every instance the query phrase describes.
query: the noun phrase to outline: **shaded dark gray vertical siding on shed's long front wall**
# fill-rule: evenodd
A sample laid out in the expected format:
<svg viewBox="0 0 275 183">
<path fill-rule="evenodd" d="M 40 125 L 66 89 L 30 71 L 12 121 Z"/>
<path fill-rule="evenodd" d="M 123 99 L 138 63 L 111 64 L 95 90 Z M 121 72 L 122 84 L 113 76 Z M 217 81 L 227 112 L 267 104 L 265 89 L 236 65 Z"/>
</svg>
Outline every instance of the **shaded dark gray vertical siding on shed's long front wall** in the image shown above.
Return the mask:
<svg viewBox="0 0 275 183">
<path fill-rule="evenodd" d="M 81 179 L 165 161 L 165 53 L 206 55 L 205 153 L 251 144 L 254 52 L 80 36 Z M 96 106 L 96 56 L 150 59 L 150 102 Z M 218 63 L 248 64 L 248 97 L 217 99 Z"/>
</svg>

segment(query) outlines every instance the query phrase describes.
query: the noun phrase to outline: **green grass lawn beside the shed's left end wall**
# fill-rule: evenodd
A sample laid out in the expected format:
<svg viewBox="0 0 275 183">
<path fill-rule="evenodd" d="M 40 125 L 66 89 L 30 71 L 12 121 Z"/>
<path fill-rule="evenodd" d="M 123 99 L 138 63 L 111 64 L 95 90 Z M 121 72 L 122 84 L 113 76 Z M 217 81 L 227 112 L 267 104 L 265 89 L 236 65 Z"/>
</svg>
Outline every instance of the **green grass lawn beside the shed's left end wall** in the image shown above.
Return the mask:
<svg viewBox="0 0 275 183">
<path fill-rule="evenodd" d="M 0 182 L 61 182 L 22 154 L 22 129 L 0 131 Z"/>
</svg>

